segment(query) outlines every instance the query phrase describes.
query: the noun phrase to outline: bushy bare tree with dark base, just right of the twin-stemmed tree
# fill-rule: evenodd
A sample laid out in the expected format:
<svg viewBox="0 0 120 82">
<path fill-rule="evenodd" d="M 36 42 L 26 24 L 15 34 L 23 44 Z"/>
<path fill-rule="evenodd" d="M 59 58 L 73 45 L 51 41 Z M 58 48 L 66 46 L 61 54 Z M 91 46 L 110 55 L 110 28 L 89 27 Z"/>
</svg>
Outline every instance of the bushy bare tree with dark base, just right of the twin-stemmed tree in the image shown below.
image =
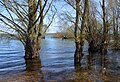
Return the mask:
<svg viewBox="0 0 120 82">
<path fill-rule="evenodd" d="M 89 52 L 97 52 L 101 44 L 101 24 L 97 19 L 97 8 L 94 1 L 89 1 L 86 17 L 86 40 L 89 43 Z"/>
</svg>

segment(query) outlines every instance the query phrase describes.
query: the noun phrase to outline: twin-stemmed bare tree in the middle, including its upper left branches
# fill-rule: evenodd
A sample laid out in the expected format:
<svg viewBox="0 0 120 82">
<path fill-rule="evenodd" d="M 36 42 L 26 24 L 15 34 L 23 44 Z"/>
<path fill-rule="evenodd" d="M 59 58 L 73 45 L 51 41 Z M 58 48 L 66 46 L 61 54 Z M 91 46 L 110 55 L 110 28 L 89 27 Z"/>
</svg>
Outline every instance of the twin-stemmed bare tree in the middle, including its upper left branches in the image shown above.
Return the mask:
<svg viewBox="0 0 120 82">
<path fill-rule="evenodd" d="M 75 65 L 79 65 L 82 59 L 82 51 L 84 45 L 84 30 L 85 30 L 85 22 L 86 22 L 86 12 L 89 0 L 65 0 L 67 4 L 69 4 L 76 11 L 76 18 L 74 22 L 74 36 L 75 36 L 75 54 L 74 54 L 74 63 Z M 82 5 L 84 3 L 84 5 Z"/>
</svg>

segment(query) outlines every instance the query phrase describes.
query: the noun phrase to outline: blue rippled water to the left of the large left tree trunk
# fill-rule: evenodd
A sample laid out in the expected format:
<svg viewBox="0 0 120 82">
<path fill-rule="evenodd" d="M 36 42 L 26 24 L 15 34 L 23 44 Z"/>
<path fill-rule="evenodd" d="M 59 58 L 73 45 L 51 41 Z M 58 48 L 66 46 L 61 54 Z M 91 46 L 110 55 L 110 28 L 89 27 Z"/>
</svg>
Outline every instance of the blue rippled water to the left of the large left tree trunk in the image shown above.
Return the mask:
<svg viewBox="0 0 120 82">
<path fill-rule="evenodd" d="M 25 70 L 23 55 L 23 46 L 19 41 L 0 41 L 0 75 Z"/>
</svg>

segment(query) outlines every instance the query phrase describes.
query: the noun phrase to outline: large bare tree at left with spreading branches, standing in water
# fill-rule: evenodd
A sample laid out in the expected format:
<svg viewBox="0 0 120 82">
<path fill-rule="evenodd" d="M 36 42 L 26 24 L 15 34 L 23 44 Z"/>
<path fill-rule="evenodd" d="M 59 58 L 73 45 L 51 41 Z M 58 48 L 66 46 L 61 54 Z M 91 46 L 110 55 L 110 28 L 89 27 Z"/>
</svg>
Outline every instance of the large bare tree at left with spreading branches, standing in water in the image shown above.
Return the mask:
<svg viewBox="0 0 120 82">
<path fill-rule="evenodd" d="M 7 15 L 0 13 L 0 21 L 8 26 L 8 29 L 14 30 L 17 34 L 6 30 L 1 31 L 14 35 L 19 39 L 25 48 L 25 59 L 39 58 L 41 37 L 43 35 L 43 19 L 51 9 L 54 0 L 1 0 L 0 4 L 6 9 Z M 52 13 L 50 23 L 56 14 Z M 46 31 L 45 31 L 46 32 Z"/>
</svg>

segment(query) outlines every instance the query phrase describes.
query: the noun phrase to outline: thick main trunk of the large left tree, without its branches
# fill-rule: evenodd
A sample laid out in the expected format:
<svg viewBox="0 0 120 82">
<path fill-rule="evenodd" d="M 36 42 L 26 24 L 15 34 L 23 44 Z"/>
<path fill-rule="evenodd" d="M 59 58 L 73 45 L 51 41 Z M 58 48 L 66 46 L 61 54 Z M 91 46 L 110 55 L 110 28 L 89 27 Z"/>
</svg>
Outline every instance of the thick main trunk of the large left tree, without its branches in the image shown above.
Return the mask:
<svg viewBox="0 0 120 82">
<path fill-rule="evenodd" d="M 25 43 L 25 59 L 34 59 L 39 57 L 40 52 L 40 36 L 38 34 L 39 30 L 36 27 L 35 20 L 36 20 L 36 0 L 28 0 L 28 17 L 29 17 L 29 24 L 27 29 L 26 35 L 26 43 Z"/>
</svg>

